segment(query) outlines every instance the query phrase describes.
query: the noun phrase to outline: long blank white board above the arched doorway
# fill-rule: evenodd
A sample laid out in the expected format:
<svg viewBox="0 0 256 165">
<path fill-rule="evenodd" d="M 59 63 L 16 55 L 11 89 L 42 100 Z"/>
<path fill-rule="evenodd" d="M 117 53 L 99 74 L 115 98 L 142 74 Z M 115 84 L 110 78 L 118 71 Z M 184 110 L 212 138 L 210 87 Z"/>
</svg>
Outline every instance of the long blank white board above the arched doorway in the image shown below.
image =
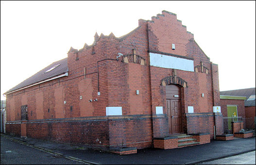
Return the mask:
<svg viewBox="0 0 256 165">
<path fill-rule="evenodd" d="M 163 54 L 149 53 L 150 66 L 194 72 L 194 61 L 184 58 L 172 57 Z"/>
</svg>

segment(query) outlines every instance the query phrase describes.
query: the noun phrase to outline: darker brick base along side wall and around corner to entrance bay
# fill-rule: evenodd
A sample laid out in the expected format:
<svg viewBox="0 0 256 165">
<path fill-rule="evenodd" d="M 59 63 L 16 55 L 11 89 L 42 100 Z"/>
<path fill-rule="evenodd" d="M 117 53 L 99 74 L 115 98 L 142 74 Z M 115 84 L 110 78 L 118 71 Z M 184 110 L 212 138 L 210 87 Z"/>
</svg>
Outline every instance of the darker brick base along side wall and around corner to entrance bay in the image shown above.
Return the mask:
<svg viewBox="0 0 256 165">
<path fill-rule="evenodd" d="M 6 123 L 6 133 L 88 148 L 136 147 L 153 145 L 152 115 L 92 116 L 13 121 Z"/>
</svg>

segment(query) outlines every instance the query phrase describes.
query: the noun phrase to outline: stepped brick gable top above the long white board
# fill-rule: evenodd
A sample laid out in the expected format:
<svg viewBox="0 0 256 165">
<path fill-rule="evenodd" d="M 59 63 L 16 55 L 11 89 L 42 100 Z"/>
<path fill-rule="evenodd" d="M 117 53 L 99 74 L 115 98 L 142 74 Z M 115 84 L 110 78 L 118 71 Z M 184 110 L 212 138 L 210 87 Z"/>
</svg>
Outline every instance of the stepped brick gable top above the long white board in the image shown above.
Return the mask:
<svg viewBox="0 0 256 165">
<path fill-rule="evenodd" d="M 162 15 L 152 17 L 152 21 L 148 22 L 148 27 L 149 49 L 187 55 L 186 44 L 188 39 L 193 38 L 193 34 L 187 33 L 187 27 L 177 20 L 175 14 L 163 11 Z M 175 44 L 175 50 L 171 49 L 171 44 Z"/>
</svg>

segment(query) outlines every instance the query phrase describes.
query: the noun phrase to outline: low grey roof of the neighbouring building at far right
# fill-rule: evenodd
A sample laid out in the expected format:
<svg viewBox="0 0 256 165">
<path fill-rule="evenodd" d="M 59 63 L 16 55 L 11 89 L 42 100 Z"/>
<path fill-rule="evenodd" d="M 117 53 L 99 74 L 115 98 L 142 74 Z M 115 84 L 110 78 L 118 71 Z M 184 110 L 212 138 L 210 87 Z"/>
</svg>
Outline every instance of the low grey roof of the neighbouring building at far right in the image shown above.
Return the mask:
<svg viewBox="0 0 256 165">
<path fill-rule="evenodd" d="M 220 91 L 220 95 L 245 96 L 244 106 L 255 106 L 255 88 Z"/>
</svg>

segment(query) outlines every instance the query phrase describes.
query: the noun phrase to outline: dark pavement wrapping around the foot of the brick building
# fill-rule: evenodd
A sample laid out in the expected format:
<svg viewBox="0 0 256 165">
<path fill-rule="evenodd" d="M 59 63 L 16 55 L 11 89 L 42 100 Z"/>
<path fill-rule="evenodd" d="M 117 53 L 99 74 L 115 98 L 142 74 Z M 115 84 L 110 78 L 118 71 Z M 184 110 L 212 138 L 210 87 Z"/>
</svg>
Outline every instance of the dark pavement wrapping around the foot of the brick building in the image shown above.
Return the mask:
<svg viewBox="0 0 256 165">
<path fill-rule="evenodd" d="M 37 148 L 53 155 L 63 156 L 84 164 L 200 164 L 217 159 L 240 155 L 255 151 L 256 139 L 234 138 L 229 141 L 211 140 L 211 143 L 173 149 L 143 148 L 137 149 L 137 154 L 117 155 L 102 150 L 85 148 L 71 144 L 56 143 L 47 140 L 21 138 L 1 133 L 1 138 L 7 138 L 23 145 Z"/>
</svg>

